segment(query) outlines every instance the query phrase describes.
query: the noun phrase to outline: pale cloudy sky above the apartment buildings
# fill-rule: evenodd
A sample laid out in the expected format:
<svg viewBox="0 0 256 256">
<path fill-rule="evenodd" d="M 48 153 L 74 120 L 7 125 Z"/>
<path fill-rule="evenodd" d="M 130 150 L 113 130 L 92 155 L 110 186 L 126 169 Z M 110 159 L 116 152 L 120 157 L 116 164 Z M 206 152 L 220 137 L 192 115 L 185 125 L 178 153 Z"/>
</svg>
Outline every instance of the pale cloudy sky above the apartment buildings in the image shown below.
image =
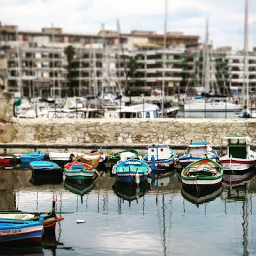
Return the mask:
<svg viewBox="0 0 256 256">
<path fill-rule="evenodd" d="M 3 25 L 20 30 L 41 31 L 43 27 L 63 28 L 65 33 L 98 33 L 101 24 L 122 33 L 150 30 L 164 33 L 165 0 L 0 0 Z M 209 38 L 214 48 L 232 46 L 243 49 L 245 0 L 168 0 L 167 31 L 205 37 L 209 19 Z M 249 49 L 256 46 L 256 0 L 249 0 Z"/>
</svg>

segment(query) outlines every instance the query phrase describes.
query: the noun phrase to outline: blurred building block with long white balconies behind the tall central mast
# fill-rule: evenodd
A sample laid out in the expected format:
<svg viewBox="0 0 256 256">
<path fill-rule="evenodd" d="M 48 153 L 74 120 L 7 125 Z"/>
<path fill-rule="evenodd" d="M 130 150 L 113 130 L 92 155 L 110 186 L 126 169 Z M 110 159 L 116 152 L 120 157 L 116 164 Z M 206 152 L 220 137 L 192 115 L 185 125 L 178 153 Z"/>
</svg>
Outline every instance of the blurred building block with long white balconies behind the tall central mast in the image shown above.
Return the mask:
<svg viewBox="0 0 256 256">
<path fill-rule="evenodd" d="M 133 53 L 137 68 L 132 76 L 132 95 L 150 95 L 155 88 L 164 88 L 166 95 L 179 93 L 179 85 L 182 80 L 182 60 L 180 55 L 183 50 L 166 49 L 159 45 L 137 43 L 137 51 Z M 164 56 L 165 65 L 164 65 Z"/>
</svg>

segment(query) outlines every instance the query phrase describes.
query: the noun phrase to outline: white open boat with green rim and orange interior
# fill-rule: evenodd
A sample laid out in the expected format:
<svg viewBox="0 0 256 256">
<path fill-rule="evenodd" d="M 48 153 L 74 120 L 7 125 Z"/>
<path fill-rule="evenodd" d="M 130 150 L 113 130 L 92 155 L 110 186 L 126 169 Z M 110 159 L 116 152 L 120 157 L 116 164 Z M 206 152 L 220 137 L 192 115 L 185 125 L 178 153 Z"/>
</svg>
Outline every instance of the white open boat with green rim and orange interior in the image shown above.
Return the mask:
<svg viewBox="0 0 256 256">
<path fill-rule="evenodd" d="M 218 184 L 222 177 L 221 165 L 207 156 L 189 164 L 181 172 L 182 182 L 192 186 Z"/>
</svg>

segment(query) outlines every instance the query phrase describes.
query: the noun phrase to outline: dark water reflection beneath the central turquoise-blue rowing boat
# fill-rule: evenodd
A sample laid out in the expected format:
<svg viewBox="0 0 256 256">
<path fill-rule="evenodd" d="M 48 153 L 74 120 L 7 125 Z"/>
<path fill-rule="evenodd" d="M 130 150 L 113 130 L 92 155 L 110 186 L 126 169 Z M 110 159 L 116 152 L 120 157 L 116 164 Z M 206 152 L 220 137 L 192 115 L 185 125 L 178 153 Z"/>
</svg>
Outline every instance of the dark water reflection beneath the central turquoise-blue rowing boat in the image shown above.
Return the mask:
<svg viewBox="0 0 256 256">
<path fill-rule="evenodd" d="M 138 204 L 138 198 L 145 195 L 145 192 L 147 189 L 150 188 L 148 185 L 147 180 L 140 183 L 140 186 L 136 185 L 126 185 L 124 182 L 118 182 L 116 181 L 115 184 L 112 186 L 113 191 L 115 191 L 116 195 L 124 200 L 129 202 L 129 205 L 131 205 L 131 202 L 136 200 Z"/>
</svg>

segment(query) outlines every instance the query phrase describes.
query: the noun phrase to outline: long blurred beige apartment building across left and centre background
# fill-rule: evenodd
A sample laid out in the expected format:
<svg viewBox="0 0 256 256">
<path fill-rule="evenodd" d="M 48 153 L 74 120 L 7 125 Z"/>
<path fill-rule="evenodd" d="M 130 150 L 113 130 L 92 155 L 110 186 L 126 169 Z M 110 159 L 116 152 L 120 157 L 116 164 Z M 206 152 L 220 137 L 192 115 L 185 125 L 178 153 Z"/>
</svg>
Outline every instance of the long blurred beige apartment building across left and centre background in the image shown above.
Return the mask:
<svg viewBox="0 0 256 256">
<path fill-rule="evenodd" d="M 0 48 L 8 58 L 10 92 L 20 92 L 29 97 L 67 94 L 67 56 L 64 49 L 72 45 L 76 49 L 71 65 L 74 94 L 87 95 L 104 90 L 124 93 L 130 86 L 131 94 L 137 95 L 148 94 L 163 83 L 163 38 L 153 31 L 118 35 L 116 31 L 104 30 L 97 35 L 83 35 L 63 33 L 61 28 L 43 28 L 37 32 L 18 31 L 17 26 L 2 26 Z M 193 48 L 198 45 L 198 39 L 199 36 L 168 33 L 165 74 L 168 95 L 179 92 L 181 80 L 180 53 L 170 51 L 170 48 Z M 154 49 L 148 48 L 150 44 Z M 129 69 L 131 58 L 138 58 L 139 68 L 134 74 Z"/>
</svg>

